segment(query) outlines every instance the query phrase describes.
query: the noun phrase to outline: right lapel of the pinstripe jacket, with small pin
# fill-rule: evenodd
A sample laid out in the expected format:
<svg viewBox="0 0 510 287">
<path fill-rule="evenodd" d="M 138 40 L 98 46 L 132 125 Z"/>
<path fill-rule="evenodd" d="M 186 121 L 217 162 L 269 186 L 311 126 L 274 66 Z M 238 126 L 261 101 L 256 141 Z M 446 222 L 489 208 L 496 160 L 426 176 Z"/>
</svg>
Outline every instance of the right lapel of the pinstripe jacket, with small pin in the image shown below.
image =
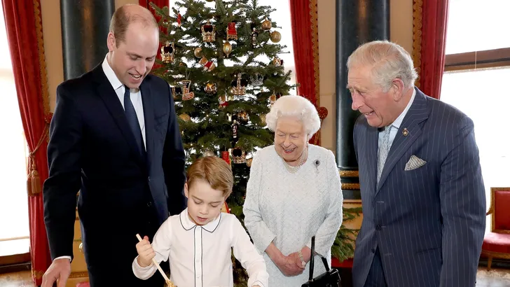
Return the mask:
<svg viewBox="0 0 510 287">
<path fill-rule="evenodd" d="M 425 98 L 425 94 L 420 92 L 420 90 L 417 88 L 415 89 L 416 95 L 414 102 L 411 104 L 411 108 L 408 110 L 404 120 L 402 121 L 402 124 L 399 127 L 397 135 L 393 140 L 392 147 L 390 148 L 390 152 L 388 153 L 385 166 L 382 168 L 380 181 L 375 192 L 376 195 L 402 155 L 406 153 L 413 142 L 415 142 L 416 139 L 418 139 L 418 137 L 420 137 L 422 134 L 422 125 L 420 125 L 420 123 L 429 118 L 429 113 L 427 111 L 427 99 Z M 402 133 L 404 128 L 408 131 L 407 136 L 404 136 Z"/>
</svg>

